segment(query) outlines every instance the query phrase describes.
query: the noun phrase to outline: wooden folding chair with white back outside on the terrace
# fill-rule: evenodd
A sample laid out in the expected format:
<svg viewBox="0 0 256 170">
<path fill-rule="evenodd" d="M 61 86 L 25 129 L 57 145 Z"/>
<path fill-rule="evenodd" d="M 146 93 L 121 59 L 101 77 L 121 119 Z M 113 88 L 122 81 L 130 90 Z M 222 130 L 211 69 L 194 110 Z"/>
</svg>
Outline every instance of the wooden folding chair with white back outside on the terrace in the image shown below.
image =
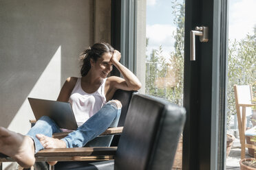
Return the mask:
<svg viewBox="0 0 256 170">
<path fill-rule="evenodd" d="M 245 148 L 256 149 L 253 144 L 246 144 L 246 136 L 256 136 L 256 127 L 246 130 L 246 117 L 251 114 L 253 90 L 250 85 L 234 85 L 237 123 L 241 143 L 241 159 L 245 158 Z"/>
</svg>

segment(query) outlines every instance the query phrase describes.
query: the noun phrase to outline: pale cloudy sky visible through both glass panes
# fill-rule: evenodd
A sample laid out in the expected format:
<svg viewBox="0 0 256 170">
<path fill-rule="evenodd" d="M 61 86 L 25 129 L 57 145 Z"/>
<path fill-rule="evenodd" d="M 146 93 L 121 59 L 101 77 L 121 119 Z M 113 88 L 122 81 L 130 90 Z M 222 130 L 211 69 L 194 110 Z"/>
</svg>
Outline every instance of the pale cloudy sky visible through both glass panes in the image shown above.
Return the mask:
<svg viewBox="0 0 256 170">
<path fill-rule="evenodd" d="M 147 0 L 147 55 L 152 49 L 163 47 L 163 55 L 168 57 L 174 50 L 173 14 L 171 6 L 175 0 Z M 180 0 L 177 0 L 180 1 Z M 228 38 L 240 40 L 253 33 L 256 26 L 256 0 L 230 0 L 228 12 Z"/>
</svg>

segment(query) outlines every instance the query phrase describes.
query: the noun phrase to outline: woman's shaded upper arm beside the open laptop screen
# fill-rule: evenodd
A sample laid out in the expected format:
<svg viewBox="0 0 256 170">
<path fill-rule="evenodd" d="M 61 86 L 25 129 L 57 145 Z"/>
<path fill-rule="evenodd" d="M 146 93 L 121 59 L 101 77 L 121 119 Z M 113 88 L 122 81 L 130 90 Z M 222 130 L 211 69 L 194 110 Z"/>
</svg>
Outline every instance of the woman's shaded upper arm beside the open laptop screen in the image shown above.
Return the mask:
<svg viewBox="0 0 256 170">
<path fill-rule="evenodd" d="M 76 85 L 77 77 L 68 77 L 61 88 L 61 92 L 58 95 L 57 101 L 67 102 L 70 99 L 70 95 L 74 86 Z"/>
</svg>

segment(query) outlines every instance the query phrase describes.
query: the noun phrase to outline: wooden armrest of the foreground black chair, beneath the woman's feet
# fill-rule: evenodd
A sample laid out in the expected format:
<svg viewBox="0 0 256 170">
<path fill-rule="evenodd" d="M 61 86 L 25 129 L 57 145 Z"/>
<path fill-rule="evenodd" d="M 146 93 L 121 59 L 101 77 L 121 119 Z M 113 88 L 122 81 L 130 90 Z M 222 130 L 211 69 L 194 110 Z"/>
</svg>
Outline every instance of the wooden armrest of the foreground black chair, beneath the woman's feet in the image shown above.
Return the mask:
<svg viewBox="0 0 256 170">
<path fill-rule="evenodd" d="M 111 160 L 117 147 L 75 147 L 43 149 L 36 155 L 36 162 L 41 161 L 76 161 L 76 160 Z M 0 155 L 0 162 L 15 162 L 14 159 Z"/>
</svg>

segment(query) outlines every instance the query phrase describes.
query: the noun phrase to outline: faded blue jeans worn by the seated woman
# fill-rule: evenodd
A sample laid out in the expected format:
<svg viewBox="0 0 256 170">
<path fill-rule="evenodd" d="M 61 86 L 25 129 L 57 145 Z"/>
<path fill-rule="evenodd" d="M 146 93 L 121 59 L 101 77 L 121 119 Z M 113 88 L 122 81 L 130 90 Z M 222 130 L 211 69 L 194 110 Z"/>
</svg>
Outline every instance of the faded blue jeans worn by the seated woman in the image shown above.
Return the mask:
<svg viewBox="0 0 256 170">
<path fill-rule="evenodd" d="M 117 127 L 120 118 L 121 109 L 117 108 L 116 104 L 107 102 L 96 114 L 90 117 L 83 125 L 78 127 L 77 130 L 62 138 L 67 148 L 69 147 L 83 147 L 89 141 L 87 146 L 105 146 L 111 144 L 113 136 L 98 137 L 107 130 L 108 127 Z M 45 136 L 52 137 L 52 134 L 62 132 L 60 127 L 49 117 L 41 117 L 36 124 L 30 129 L 27 136 L 30 136 L 34 141 L 35 153 L 43 149 L 36 134 L 44 134 Z M 92 139 L 96 138 L 94 141 Z"/>
</svg>

